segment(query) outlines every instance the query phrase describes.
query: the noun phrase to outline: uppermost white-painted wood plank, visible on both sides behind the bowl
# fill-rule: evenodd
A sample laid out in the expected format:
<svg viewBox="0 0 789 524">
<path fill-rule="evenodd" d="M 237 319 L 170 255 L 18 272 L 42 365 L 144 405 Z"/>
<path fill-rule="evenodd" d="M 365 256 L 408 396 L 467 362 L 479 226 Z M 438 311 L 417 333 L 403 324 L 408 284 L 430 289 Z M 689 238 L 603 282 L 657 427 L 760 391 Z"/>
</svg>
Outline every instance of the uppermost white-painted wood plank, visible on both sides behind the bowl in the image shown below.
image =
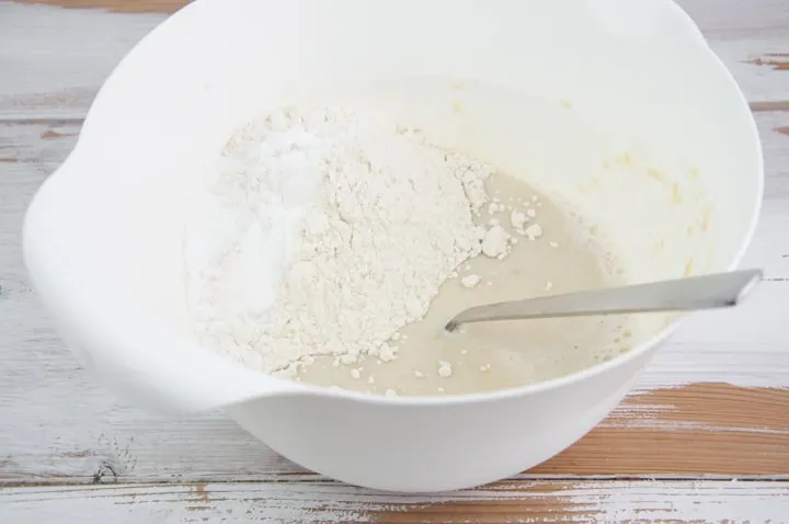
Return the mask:
<svg viewBox="0 0 789 524">
<path fill-rule="evenodd" d="M 771 53 L 789 53 L 789 2 L 682 0 L 679 4 L 696 20 L 748 100 L 789 100 L 789 71 L 753 64 Z M 0 0 L 0 118 L 33 116 L 31 110 L 49 116 L 83 115 L 118 60 L 164 19 Z"/>
</svg>

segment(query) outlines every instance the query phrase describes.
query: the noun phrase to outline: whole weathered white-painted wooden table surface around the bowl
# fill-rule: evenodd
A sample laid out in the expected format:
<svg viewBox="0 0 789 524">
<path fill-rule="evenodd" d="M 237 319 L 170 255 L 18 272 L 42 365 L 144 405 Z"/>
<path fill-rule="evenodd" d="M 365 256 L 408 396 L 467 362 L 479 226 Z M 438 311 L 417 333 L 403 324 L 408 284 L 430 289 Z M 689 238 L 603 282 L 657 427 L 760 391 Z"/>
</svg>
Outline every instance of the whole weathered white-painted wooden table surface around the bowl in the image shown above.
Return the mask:
<svg viewBox="0 0 789 524">
<path fill-rule="evenodd" d="M 688 321 L 570 449 L 431 497 L 310 474 L 219 413 L 122 405 L 71 357 L 22 265 L 23 213 L 112 67 L 182 2 L 39 3 L 0 1 L 0 523 L 789 522 L 789 0 L 681 2 L 758 124 L 766 194 L 744 265 L 766 282 Z"/>
</svg>

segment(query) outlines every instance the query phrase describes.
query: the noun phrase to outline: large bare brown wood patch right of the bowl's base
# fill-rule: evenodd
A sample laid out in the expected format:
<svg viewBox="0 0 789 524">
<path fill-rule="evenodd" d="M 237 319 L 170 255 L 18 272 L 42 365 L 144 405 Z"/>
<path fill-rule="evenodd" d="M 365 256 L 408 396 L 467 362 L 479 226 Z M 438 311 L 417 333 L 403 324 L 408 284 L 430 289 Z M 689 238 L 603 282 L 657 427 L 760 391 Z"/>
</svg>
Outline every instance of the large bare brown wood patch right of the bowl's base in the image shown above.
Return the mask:
<svg viewBox="0 0 789 524">
<path fill-rule="evenodd" d="M 787 475 L 787 442 L 789 390 L 694 384 L 628 397 L 601 426 L 529 472 Z"/>
</svg>

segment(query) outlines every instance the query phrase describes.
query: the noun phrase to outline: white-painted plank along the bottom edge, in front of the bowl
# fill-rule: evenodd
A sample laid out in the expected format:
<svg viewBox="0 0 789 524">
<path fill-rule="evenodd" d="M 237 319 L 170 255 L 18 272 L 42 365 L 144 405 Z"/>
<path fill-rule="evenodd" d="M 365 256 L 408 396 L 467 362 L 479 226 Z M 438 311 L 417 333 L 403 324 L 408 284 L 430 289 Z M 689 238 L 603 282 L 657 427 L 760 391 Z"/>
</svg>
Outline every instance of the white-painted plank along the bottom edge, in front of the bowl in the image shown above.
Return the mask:
<svg viewBox="0 0 789 524">
<path fill-rule="evenodd" d="M 335 482 L 33 487 L 0 491 L 0 522 L 786 522 L 789 482 L 507 481 L 437 495 Z"/>
</svg>

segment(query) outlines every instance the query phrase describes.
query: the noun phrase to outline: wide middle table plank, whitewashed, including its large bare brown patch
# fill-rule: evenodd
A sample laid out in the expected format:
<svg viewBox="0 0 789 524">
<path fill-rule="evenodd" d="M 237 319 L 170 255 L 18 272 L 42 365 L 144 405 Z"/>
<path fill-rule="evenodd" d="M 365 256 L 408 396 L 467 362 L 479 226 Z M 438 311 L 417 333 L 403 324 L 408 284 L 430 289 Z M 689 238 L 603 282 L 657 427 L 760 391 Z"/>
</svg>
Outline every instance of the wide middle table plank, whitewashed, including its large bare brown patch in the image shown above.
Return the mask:
<svg viewBox="0 0 789 524">
<path fill-rule="evenodd" d="M 789 475 L 789 447 L 781 444 L 789 442 L 789 390 L 769 387 L 789 380 L 789 332 L 780 323 L 789 246 L 775 241 L 789 230 L 789 137 L 773 130 L 789 124 L 789 114 L 761 113 L 757 122 L 767 203 L 746 263 L 765 267 L 768 281 L 741 310 L 691 319 L 636 395 L 530 474 Z M 173 421 L 118 405 L 59 341 L 27 283 L 18 231 L 28 200 L 78 132 L 73 122 L 0 124 L 0 159 L 10 161 L 0 207 L 0 317 L 11 320 L 0 324 L 0 346 L 8 348 L 0 369 L 12 371 L 0 381 L 0 482 L 265 480 L 302 472 L 219 413 Z"/>
</svg>

